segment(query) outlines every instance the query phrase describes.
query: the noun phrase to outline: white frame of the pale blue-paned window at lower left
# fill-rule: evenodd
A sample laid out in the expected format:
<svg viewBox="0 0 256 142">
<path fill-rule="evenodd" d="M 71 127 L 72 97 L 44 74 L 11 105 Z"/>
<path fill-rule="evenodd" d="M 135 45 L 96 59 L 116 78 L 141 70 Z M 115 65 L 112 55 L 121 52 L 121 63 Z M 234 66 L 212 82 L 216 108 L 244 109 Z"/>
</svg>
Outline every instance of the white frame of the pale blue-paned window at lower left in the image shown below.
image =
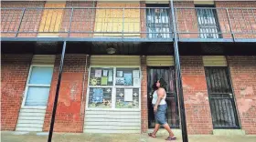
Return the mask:
<svg viewBox="0 0 256 142">
<path fill-rule="evenodd" d="M 33 85 L 33 84 L 29 84 L 29 83 L 28 83 L 29 80 L 30 80 L 31 73 L 32 73 L 32 68 L 35 67 L 35 66 L 44 66 L 44 67 L 48 67 L 48 65 L 31 65 L 31 66 L 29 67 L 29 72 L 28 72 L 28 76 L 27 76 L 26 88 L 25 88 L 25 92 L 24 92 L 24 96 L 23 96 L 23 100 L 22 100 L 22 104 L 21 104 L 21 107 L 22 107 L 22 108 L 25 108 L 25 107 L 29 107 L 29 108 L 33 108 L 33 107 L 35 107 L 35 108 L 43 108 L 43 107 L 46 107 L 46 106 L 25 106 L 25 102 L 26 102 L 26 99 L 27 99 L 28 87 L 29 87 L 29 86 L 35 86 L 35 85 Z M 53 69 L 53 71 L 54 71 L 54 66 L 53 66 L 53 65 L 51 65 L 51 66 L 49 66 L 49 67 L 53 67 L 52 69 Z M 51 79 L 52 79 L 52 76 L 53 76 L 53 74 L 51 75 Z M 46 85 L 42 85 L 42 86 L 46 86 Z M 47 86 L 50 87 L 50 84 L 47 85 Z"/>
</svg>

